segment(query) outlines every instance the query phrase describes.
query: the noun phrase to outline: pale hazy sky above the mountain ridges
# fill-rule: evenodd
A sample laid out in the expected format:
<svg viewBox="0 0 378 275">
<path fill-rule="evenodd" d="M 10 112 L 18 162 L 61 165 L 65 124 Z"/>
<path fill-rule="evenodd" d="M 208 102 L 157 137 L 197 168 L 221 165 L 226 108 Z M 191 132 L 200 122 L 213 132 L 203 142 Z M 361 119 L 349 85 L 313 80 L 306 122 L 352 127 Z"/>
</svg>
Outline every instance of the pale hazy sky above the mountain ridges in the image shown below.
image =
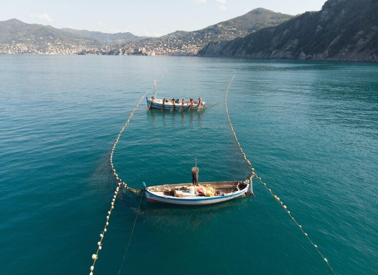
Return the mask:
<svg viewBox="0 0 378 275">
<path fill-rule="evenodd" d="M 195 31 L 263 7 L 296 15 L 325 0 L 0 0 L 0 21 L 17 18 L 55 28 L 162 36 Z"/>
</svg>

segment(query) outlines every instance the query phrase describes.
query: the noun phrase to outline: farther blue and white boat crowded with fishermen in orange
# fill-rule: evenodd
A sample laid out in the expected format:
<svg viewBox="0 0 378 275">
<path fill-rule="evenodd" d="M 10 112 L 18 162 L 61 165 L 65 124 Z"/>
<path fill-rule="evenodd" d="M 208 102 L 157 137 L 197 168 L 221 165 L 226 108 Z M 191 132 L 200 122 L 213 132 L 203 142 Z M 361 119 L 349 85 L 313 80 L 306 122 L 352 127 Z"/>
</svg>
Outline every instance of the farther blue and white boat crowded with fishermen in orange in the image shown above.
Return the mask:
<svg viewBox="0 0 378 275">
<path fill-rule="evenodd" d="M 198 100 L 194 100 L 190 98 L 189 100 L 185 100 L 182 98 L 181 100 L 172 98 L 163 98 L 158 99 L 156 97 L 156 80 L 154 81 L 154 96 L 151 98 L 146 97 L 147 101 L 147 108 L 148 109 L 160 109 L 160 110 L 204 110 L 206 102 L 202 101 L 202 98 L 199 97 Z"/>
</svg>

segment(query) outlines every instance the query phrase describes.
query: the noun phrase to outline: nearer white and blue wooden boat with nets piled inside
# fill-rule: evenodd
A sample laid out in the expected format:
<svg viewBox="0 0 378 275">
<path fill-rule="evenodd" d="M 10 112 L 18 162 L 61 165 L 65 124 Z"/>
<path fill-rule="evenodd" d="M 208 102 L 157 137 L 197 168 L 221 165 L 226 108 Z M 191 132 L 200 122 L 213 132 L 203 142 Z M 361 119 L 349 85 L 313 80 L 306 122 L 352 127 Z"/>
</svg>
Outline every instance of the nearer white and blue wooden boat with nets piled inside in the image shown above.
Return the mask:
<svg viewBox="0 0 378 275">
<path fill-rule="evenodd" d="M 148 202 L 207 205 L 226 202 L 252 193 L 252 179 L 236 182 L 163 184 L 144 188 Z"/>
</svg>

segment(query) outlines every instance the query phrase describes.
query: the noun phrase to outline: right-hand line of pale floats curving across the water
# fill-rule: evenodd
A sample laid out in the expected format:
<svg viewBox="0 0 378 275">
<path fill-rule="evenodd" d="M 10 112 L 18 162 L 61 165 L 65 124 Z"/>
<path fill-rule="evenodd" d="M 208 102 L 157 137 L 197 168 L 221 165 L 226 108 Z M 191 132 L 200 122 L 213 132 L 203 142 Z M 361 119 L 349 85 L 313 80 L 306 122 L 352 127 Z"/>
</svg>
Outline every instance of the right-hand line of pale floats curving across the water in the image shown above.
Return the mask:
<svg viewBox="0 0 378 275">
<path fill-rule="evenodd" d="M 251 167 L 251 170 L 252 170 L 252 176 L 255 176 L 263 185 L 264 187 L 268 190 L 268 192 L 272 195 L 273 199 L 276 200 L 276 202 L 278 202 L 281 207 L 286 211 L 286 213 L 290 216 L 291 220 L 294 221 L 294 223 L 298 226 L 298 228 L 302 231 L 302 233 L 306 236 L 306 238 L 311 242 L 311 244 L 314 246 L 314 248 L 318 251 L 318 253 L 320 254 L 320 256 L 324 259 L 324 261 L 328 264 L 328 267 L 331 269 L 331 271 L 333 272 L 333 274 L 336 274 L 331 265 L 329 264 L 328 260 L 323 256 L 323 254 L 320 252 L 320 250 L 318 249 L 318 246 L 316 244 L 314 244 L 314 242 L 308 237 L 308 234 L 305 232 L 305 230 L 303 229 L 302 225 L 300 225 L 295 219 L 294 217 L 291 215 L 290 211 L 288 211 L 288 207 L 281 201 L 280 198 L 278 198 L 276 195 L 273 194 L 273 192 L 271 191 L 271 189 L 268 187 L 267 183 L 264 183 L 261 178 L 259 176 L 256 175 L 256 173 L 254 172 L 254 168 L 252 167 L 252 164 L 251 162 L 248 160 L 246 154 L 243 152 L 243 149 L 241 148 L 240 146 L 240 143 L 238 142 L 237 140 L 237 137 L 236 137 L 236 133 L 234 131 L 234 127 L 231 123 L 231 119 L 230 119 L 230 115 L 228 113 L 228 107 L 227 107 L 227 95 L 228 95 L 228 91 L 230 90 L 230 86 L 231 86 L 231 83 L 233 82 L 234 80 L 234 77 L 235 77 L 235 74 L 233 76 L 233 78 L 231 79 L 228 87 L 227 87 L 227 91 L 226 91 L 226 99 L 225 99 L 225 106 L 226 106 L 226 112 L 227 112 L 227 119 L 228 119 L 228 122 L 230 124 L 230 127 L 231 127 L 231 130 L 234 134 L 234 138 L 235 138 L 235 141 L 236 141 L 236 144 L 237 146 L 239 147 L 240 149 L 240 153 L 243 155 L 243 159 L 247 162 L 247 164 Z"/>
</svg>

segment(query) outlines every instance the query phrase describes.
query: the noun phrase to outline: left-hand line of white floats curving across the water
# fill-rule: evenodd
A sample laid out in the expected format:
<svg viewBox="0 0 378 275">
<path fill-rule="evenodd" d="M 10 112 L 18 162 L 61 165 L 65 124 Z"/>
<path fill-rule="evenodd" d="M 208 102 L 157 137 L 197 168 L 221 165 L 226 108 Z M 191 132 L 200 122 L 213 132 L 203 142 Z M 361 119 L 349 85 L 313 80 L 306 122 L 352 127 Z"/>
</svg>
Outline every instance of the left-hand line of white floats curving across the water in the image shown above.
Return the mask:
<svg viewBox="0 0 378 275">
<path fill-rule="evenodd" d="M 157 82 L 159 82 L 159 80 L 164 76 L 164 74 L 165 74 L 166 71 L 167 71 L 167 70 L 164 71 L 164 73 L 163 73 L 162 76 L 157 80 Z M 151 89 L 153 89 L 153 88 L 152 88 L 152 87 L 149 88 L 149 89 L 147 90 L 147 92 L 149 92 Z M 107 215 L 107 217 L 106 217 L 107 220 L 106 220 L 106 223 L 105 223 L 105 227 L 104 227 L 103 231 L 102 231 L 101 234 L 100 234 L 100 241 L 97 242 L 97 251 L 96 251 L 96 254 L 93 254 L 93 255 L 92 255 L 93 264 L 90 266 L 90 275 L 93 275 L 94 264 L 96 263 L 96 260 L 98 259 L 98 253 L 99 253 L 99 251 L 102 249 L 102 240 L 103 240 L 103 238 L 104 238 L 104 236 L 105 236 L 105 233 L 107 232 L 107 227 L 108 227 L 108 225 L 109 225 L 110 214 L 111 214 L 111 211 L 114 209 L 114 202 L 115 202 L 115 199 L 117 199 L 117 195 L 118 195 L 118 192 L 119 192 L 120 187 L 122 186 L 122 184 L 123 184 L 123 186 L 125 186 L 125 187 L 127 186 L 126 183 L 123 183 L 123 182 L 122 182 L 122 179 L 118 176 L 118 174 L 117 174 L 117 172 L 116 172 L 116 170 L 115 170 L 115 168 L 114 168 L 114 165 L 113 165 L 113 154 L 114 154 L 114 150 L 115 150 L 115 147 L 117 146 L 117 143 L 118 143 L 118 141 L 119 141 L 119 138 L 121 137 L 122 132 L 125 130 L 127 124 L 130 122 L 130 119 L 133 117 L 135 110 L 137 110 L 139 104 L 142 102 L 142 100 L 143 100 L 144 96 L 147 94 L 147 92 L 144 93 L 144 95 L 143 95 L 143 96 L 141 97 L 141 99 L 138 101 L 138 103 L 137 103 L 137 105 L 135 106 L 135 108 L 131 111 L 130 116 L 128 117 L 128 119 L 127 119 L 125 125 L 121 128 L 121 131 L 118 133 L 117 138 L 116 138 L 116 140 L 115 140 L 115 142 L 114 142 L 114 145 L 113 145 L 113 147 L 112 147 L 112 149 L 111 149 L 111 152 L 110 152 L 110 166 L 111 166 L 111 169 L 112 169 L 112 171 L 113 171 L 113 174 L 114 174 L 114 176 L 115 176 L 115 178 L 116 178 L 116 180 L 117 180 L 117 187 L 115 188 L 114 195 L 113 195 L 113 198 L 112 198 L 111 203 L 110 203 L 110 209 L 109 209 L 109 211 L 108 211 L 108 215 Z"/>
</svg>

